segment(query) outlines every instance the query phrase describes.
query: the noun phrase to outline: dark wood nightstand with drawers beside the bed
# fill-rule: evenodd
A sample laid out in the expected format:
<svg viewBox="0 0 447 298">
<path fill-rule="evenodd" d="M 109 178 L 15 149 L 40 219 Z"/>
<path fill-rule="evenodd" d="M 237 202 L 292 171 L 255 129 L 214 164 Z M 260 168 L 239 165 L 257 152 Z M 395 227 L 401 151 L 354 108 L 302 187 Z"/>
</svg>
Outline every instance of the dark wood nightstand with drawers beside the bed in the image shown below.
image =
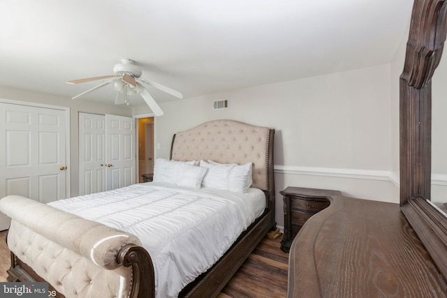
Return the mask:
<svg viewBox="0 0 447 298">
<path fill-rule="evenodd" d="M 284 199 L 284 236 L 281 250 L 288 253 L 293 238 L 302 225 L 314 214 L 329 206 L 328 197 L 342 195 L 339 191 L 327 189 L 288 187 L 280 191 Z"/>
</svg>

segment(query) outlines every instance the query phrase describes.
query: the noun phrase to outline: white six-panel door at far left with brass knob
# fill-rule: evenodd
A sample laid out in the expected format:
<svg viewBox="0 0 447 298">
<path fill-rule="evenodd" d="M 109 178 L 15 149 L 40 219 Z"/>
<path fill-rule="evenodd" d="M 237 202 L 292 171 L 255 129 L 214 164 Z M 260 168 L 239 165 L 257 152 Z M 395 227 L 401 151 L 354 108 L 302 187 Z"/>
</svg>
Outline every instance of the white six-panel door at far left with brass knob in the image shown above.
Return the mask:
<svg viewBox="0 0 447 298">
<path fill-rule="evenodd" d="M 0 198 L 66 198 L 66 112 L 0 103 L 0 115 Z M 1 214 L 0 230 L 6 223 Z"/>
</svg>

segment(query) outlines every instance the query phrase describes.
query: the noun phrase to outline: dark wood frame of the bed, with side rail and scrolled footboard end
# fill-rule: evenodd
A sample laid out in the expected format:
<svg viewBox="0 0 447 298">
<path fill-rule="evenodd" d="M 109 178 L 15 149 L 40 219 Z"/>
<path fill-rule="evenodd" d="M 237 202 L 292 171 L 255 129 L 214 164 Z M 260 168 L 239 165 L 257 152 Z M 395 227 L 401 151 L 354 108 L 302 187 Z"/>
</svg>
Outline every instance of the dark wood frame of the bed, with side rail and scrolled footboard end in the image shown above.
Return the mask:
<svg viewBox="0 0 447 298">
<path fill-rule="evenodd" d="M 175 135 L 172 144 L 174 142 Z M 180 292 L 179 297 L 216 297 L 261 239 L 270 230 L 276 228 L 274 221 L 273 143 L 274 130 L 270 129 L 265 161 L 267 165 L 268 187 L 264 190 L 267 200 L 264 213 L 240 235 L 235 244 L 228 249 L 217 263 L 196 278 L 195 281 L 186 285 L 182 292 Z M 171 146 L 170 156 L 173 154 L 172 148 L 173 146 Z M 155 297 L 154 267 L 149 253 L 144 248 L 133 244 L 126 245 L 118 251 L 116 260 L 119 265 L 131 267 L 133 283 L 129 297 Z M 45 280 L 11 252 L 11 267 L 8 269 L 8 281 L 26 282 Z M 49 290 L 54 290 L 52 285 L 49 285 Z M 56 297 L 64 297 L 64 295 L 57 292 Z"/>
</svg>

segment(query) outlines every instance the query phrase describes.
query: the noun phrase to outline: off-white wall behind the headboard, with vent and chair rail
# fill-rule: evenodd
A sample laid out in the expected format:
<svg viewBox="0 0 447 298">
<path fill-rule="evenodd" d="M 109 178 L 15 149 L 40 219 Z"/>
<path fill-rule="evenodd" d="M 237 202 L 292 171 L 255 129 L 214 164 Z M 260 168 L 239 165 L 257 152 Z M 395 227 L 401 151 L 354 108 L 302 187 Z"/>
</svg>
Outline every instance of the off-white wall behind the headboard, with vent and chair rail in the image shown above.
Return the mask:
<svg viewBox="0 0 447 298">
<path fill-rule="evenodd" d="M 399 202 L 393 170 L 390 64 L 160 103 L 156 157 L 168 158 L 173 134 L 212 119 L 234 119 L 276 130 L 276 220 L 284 225 L 286 186 L 342 191 Z M 268 71 L 268 70 L 266 70 Z M 228 110 L 212 101 L 228 98 Z M 133 114 L 140 114 L 134 110 Z M 398 151 L 398 149 L 397 149 Z"/>
</svg>

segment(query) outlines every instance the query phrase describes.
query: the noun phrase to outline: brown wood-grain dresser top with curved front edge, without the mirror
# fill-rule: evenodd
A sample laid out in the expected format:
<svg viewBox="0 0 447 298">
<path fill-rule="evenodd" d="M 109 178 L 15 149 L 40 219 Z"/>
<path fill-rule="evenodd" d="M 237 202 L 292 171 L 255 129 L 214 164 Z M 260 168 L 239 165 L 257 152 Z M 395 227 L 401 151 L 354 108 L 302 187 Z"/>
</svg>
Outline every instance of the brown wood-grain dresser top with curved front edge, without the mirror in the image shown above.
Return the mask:
<svg viewBox="0 0 447 298">
<path fill-rule="evenodd" d="M 289 253 L 291 297 L 447 297 L 399 204 L 331 196 Z"/>
</svg>

